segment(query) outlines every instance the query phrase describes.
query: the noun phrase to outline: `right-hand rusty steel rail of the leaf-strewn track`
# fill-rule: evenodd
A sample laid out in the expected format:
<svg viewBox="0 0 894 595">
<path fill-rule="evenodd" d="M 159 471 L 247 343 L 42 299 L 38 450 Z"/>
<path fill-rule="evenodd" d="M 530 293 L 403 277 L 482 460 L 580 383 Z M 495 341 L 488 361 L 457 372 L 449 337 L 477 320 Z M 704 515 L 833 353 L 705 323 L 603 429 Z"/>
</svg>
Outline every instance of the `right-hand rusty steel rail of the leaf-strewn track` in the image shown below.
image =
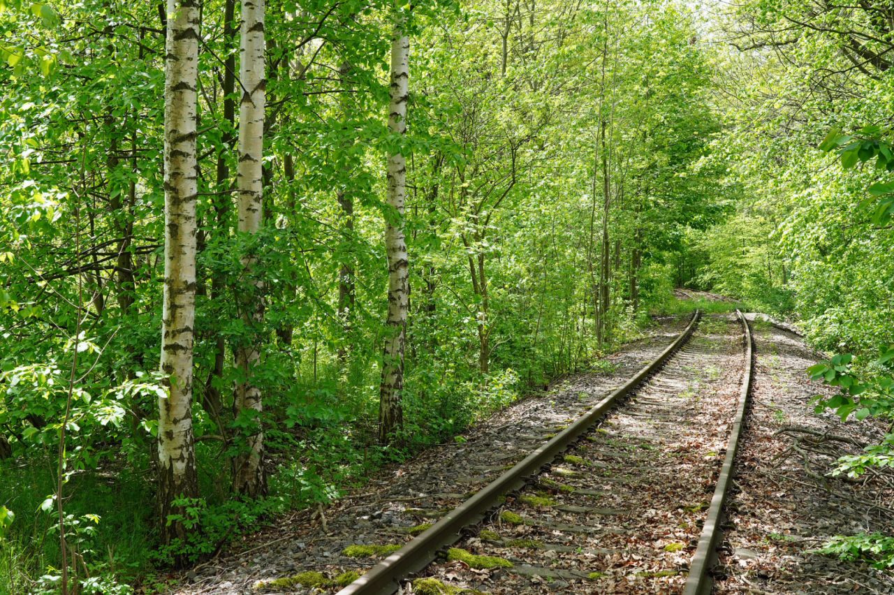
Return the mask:
<svg viewBox="0 0 894 595">
<path fill-rule="evenodd" d="M 711 499 L 711 506 L 708 507 L 707 518 L 704 519 L 704 527 L 702 528 L 702 535 L 698 539 L 696 553 L 692 557 L 692 564 L 689 565 L 689 577 L 687 578 L 683 595 L 705 595 L 713 589 L 713 576 L 709 571 L 713 563 L 717 542 L 720 540 L 722 533 L 721 515 L 723 514 L 723 505 L 730 491 L 738 441 L 742 435 L 742 428 L 745 425 L 748 396 L 751 393 L 751 381 L 754 376 L 754 338 L 751 335 L 751 328 L 748 326 L 745 314 L 738 310 L 736 310 L 736 314 L 745 331 L 745 374 L 742 380 L 742 390 L 738 398 L 736 418 L 730 429 L 730 440 L 727 442 L 726 457 L 723 459 L 721 473 L 714 487 L 714 495 Z"/>
</svg>

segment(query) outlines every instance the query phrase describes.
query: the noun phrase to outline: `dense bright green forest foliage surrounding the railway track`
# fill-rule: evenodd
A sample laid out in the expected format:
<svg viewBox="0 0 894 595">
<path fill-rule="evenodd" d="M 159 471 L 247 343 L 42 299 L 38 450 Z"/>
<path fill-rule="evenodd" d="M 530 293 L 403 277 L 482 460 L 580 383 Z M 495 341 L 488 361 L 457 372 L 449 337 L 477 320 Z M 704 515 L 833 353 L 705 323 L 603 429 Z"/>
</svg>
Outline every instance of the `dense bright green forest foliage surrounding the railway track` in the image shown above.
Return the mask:
<svg viewBox="0 0 894 595">
<path fill-rule="evenodd" d="M 605 365 L 686 307 L 675 287 L 866 358 L 828 381 L 890 361 L 870 361 L 894 342 L 887 3 L 272 0 L 255 63 L 244 6 L 181 4 L 199 31 L 196 485 L 159 508 L 159 401 L 184 389 L 159 372 L 174 11 L 0 0 L 0 591 L 53 592 L 60 568 L 84 592 L 151 589 Z M 240 111 L 258 71 L 256 160 Z"/>
</svg>

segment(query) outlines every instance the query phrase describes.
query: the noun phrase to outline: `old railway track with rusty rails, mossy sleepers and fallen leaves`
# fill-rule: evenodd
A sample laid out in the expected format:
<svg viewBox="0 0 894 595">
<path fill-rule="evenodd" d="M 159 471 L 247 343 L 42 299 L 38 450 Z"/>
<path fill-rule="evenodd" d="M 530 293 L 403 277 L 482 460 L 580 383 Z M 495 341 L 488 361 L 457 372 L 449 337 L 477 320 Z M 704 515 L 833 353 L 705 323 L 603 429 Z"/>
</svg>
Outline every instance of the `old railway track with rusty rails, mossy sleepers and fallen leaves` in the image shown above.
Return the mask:
<svg viewBox="0 0 894 595">
<path fill-rule="evenodd" d="M 432 526 L 339 595 L 410 576 L 417 592 L 710 592 L 752 347 L 741 313 L 699 318 L 460 506 L 420 511 Z"/>
</svg>

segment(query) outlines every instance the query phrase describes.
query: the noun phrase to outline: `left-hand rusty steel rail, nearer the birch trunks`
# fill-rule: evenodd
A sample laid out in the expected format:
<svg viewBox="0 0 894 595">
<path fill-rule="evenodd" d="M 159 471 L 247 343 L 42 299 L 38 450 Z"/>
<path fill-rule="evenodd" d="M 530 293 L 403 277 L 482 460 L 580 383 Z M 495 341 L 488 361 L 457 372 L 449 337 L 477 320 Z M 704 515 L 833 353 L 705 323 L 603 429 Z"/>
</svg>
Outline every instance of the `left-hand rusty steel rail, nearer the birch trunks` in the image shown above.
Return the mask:
<svg viewBox="0 0 894 595">
<path fill-rule="evenodd" d="M 637 390 L 638 385 L 656 372 L 676 352 L 696 329 L 701 313 L 696 310 L 686 329 L 679 333 L 677 339 L 662 351 L 662 354 L 649 365 L 645 365 L 634 374 L 623 386 L 611 392 L 608 397 L 590 408 L 584 415 L 556 434 L 527 457 L 522 459 L 506 473 L 502 473 L 493 482 L 488 483 L 470 499 L 432 525 L 401 549 L 373 566 L 367 574 L 351 582 L 337 595 L 392 595 L 398 591 L 400 582 L 409 574 L 416 573 L 428 566 L 438 550 L 449 546 L 460 539 L 463 528 L 477 524 L 485 515 L 502 501 L 502 496 L 519 490 L 531 477 L 534 477 L 544 465 L 564 452 L 599 419 L 611 409 L 621 398 Z"/>
</svg>

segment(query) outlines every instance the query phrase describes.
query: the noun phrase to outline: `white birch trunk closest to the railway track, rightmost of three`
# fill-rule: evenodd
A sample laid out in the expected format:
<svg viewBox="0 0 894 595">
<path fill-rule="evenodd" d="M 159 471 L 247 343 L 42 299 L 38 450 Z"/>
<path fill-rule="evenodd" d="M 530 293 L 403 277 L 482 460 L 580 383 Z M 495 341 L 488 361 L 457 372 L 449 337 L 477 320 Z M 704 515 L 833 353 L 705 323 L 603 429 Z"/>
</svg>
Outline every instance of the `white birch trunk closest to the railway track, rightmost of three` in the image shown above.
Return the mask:
<svg viewBox="0 0 894 595">
<path fill-rule="evenodd" d="M 392 38 L 391 102 L 388 129 L 403 135 L 407 130 L 409 98 L 409 37 L 405 22 L 398 21 Z M 403 423 L 403 352 L 409 311 L 409 262 L 403 235 L 403 204 L 406 195 L 407 163 L 400 152 L 388 158 L 388 205 L 396 213 L 385 219 L 385 250 L 388 256 L 388 318 L 379 389 L 379 441 L 387 443 Z M 396 215 L 396 216 L 395 216 Z"/>
</svg>

